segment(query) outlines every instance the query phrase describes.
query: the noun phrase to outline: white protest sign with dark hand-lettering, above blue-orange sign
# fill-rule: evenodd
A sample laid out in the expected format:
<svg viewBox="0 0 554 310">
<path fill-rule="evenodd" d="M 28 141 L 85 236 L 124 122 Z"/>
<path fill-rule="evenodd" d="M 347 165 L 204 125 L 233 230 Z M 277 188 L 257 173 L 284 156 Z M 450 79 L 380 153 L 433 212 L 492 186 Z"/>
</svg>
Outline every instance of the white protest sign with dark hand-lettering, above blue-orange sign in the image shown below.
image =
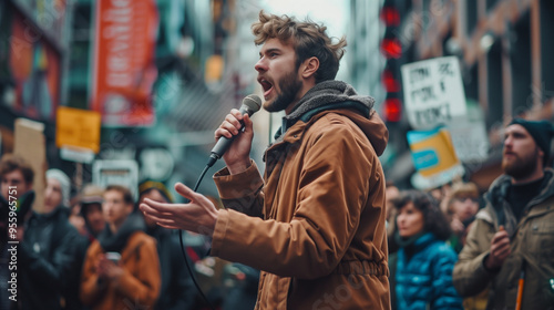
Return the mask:
<svg viewBox="0 0 554 310">
<path fill-rule="evenodd" d="M 414 130 L 431 130 L 465 115 L 465 93 L 455 56 L 401 68 L 408 121 Z"/>
</svg>

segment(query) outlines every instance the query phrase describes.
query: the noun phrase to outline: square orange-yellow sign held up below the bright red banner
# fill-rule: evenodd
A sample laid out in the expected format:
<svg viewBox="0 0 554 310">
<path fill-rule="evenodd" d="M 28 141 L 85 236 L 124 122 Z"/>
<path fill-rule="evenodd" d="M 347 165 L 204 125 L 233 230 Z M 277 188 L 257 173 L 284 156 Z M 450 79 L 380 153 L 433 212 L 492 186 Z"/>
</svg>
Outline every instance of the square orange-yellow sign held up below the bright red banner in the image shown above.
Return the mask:
<svg viewBox="0 0 554 310">
<path fill-rule="evenodd" d="M 100 151 L 100 113 L 66 106 L 58 108 L 55 145 Z"/>
</svg>

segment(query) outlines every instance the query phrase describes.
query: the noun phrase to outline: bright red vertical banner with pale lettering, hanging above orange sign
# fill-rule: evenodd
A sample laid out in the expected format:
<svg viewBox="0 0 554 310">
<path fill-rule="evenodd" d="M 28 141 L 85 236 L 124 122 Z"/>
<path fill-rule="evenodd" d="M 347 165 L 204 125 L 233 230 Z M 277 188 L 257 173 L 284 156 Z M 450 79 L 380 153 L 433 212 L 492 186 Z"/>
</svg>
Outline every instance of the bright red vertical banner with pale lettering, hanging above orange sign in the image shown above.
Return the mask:
<svg viewBox="0 0 554 310">
<path fill-rule="evenodd" d="M 95 7 L 91 110 L 105 126 L 152 125 L 156 1 L 99 0 Z"/>
</svg>

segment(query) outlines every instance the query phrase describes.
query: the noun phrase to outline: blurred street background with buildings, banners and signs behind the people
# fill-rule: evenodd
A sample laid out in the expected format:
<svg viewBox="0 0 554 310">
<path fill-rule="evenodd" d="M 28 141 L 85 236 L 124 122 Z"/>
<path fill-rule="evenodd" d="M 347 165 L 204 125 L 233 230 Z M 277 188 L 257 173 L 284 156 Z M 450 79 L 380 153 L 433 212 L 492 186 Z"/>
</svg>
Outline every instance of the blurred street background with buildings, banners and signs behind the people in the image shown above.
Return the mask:
<svg viewBox="0 0 554 310">
<path fill-rule="evenodd" d="M 260 10 L 346 35 L 337 79 L 376 99 L 390 135 L 380 161 L 401 189 L 463 180 L 484 193 L 502 174 L 505 125 L 554 121 L 554 1 L 3 0 L 0 154 L 33 165 L 33 208 L 48 168 L 71 178 L 72 197 L 116 183 L 137 198 L 154 179 L 179 200 L 173 185 L 194 186 L 225 115 L 263 92 L 250 31 Z M 253 116 L 261 172 L 281 116 Z M 218 199 L 209 177 L 198 192 Z M 256 282 L 255 270 L 196 262 L 216 302 L 249 272 Z"/>
</svg>

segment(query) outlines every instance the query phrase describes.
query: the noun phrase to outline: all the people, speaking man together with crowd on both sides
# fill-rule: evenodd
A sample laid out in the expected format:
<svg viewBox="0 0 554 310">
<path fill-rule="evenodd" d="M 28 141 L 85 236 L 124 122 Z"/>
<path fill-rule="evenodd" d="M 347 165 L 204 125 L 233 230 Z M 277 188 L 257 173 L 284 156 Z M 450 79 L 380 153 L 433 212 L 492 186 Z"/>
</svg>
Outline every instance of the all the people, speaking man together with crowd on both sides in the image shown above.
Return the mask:
<svg viewBox="0 0 554 310">
<path fill-rule="evenodd" d="M 205 260 L 196 271 L 227 271 L 232 290 L 212 299 L 220 309 L 554 309 L 550 122 L 505 127 L 503 174 L 489 188 L 398 188 L 378 158 L 388 131 L 372 99 L 335 81 L 345 39 L 265 12 L 253 31 L 264 107 L 286 112 L 264 176 L 249 158 L 253 123 L 237 110 L 215 133 L 236 137 L 214 175 L 220 202 L 177 184 L 181 203 L 155 180 L 137 185 L 136 199 L 116 184 L 71 199 L 71 179 L 49 169 L 39 213 L 35 172 L 3 155 L 2 309 L 203 309 L 184 256 Z M 208 241 L 185 242 L 184 254 L 176 228 Z M 17 302 L 7 296 L 14 240 Z"/>
</svg>

